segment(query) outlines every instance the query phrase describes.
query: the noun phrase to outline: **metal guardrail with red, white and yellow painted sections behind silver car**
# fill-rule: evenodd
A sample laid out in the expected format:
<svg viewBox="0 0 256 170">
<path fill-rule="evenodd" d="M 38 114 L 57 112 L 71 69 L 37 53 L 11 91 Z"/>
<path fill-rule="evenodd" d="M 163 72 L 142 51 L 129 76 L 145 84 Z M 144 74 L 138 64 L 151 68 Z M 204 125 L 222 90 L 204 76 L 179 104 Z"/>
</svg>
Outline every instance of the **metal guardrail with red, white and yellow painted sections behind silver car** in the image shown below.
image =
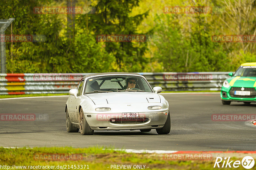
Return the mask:
<svg viewBox="0 0 256 170">
<path fill-rule="evenodd" d="M 192 73 L 139 73 L 146 77 L 151 87 L 160 86 L 163 91 L 220 90 L 229 72 Z M 68 93 L 77 87 L 80 79 L 91 73 L 42 73 L 0 74 L 0 95 Z"/>
</svg>

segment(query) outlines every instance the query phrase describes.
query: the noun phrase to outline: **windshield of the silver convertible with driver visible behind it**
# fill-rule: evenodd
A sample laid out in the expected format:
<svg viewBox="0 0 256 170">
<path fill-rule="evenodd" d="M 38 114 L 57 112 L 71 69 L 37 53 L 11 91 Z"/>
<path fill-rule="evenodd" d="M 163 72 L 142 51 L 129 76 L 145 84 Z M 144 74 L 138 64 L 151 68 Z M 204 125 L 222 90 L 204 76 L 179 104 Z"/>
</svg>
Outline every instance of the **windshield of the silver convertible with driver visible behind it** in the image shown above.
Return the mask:
<svg viewBox="0 0 256 170">
<path fill-rule="evenodd" d="M 134 75 L 111 75 L 89 78 L 85 84 L 85 93 L 94 92 L 122 92 L 122 91 L 144 91 L 153 92 L 148 82 Z"/>
</svg>

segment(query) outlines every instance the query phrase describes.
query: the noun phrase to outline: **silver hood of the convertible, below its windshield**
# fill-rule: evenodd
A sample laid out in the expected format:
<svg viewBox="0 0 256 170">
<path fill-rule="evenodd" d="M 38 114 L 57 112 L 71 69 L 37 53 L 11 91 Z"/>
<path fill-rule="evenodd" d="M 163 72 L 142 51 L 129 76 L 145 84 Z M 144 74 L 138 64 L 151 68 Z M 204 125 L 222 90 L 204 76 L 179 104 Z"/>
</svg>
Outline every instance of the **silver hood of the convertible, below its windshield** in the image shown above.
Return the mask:
<svg viewBox="0 0 256 170">
<path fill-rule="evenodd" d="M 160 103 L 159 95 L 150 92 L 109 92 L 87 94 L 95 104 Z"/>
</svg>

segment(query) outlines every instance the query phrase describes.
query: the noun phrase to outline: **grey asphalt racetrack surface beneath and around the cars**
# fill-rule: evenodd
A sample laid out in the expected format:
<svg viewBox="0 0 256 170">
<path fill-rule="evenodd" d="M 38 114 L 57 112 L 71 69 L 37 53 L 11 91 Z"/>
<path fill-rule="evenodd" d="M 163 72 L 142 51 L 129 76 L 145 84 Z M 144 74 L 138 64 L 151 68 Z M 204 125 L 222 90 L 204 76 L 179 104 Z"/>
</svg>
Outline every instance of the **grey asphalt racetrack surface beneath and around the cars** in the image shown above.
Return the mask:
<svg viewBox="0 0 256 170">
<path fill-rule="evenodd" d="M 0 100 L 0 114 L 36 115 L 34 121 L 0 121 L 0 146 L 106 146 L 177 151 L 255 151 L 256 126 L 249 121 L 212 121 L 212 114 L 254 114 L 250 106 L 222 105 L 220 94 L 165 94 L 171 112 L 171 132 L 157 135 L 135 131 L 95 131 L 82 136 L 66 131 L 68 96 Z"/>
</svg>

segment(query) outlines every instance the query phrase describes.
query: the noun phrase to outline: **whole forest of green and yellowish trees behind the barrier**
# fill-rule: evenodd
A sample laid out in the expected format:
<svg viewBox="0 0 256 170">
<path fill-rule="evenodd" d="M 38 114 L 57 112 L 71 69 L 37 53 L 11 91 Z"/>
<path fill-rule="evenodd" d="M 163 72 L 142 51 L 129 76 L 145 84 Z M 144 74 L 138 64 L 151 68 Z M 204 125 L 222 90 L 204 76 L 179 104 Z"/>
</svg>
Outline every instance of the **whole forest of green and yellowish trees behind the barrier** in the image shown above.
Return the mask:
<svg viewBox="0 0 256 170">
<path fill-rule="evenodd" d="M 35 7 L 76 5 L 78 14 L 37 14 Z M 206 6 L 209 13 L 165 13 Z M 6 42 L 7 73 L 222 72 L 256 61 L 255 42 L 214 42 L 213 35 L 255 35 L 254 0 L 1 0 L 5 34 L 44 35 Z M 98 42 L 102 34 L 145 35 L 145 42 Z"/>
</svg>

